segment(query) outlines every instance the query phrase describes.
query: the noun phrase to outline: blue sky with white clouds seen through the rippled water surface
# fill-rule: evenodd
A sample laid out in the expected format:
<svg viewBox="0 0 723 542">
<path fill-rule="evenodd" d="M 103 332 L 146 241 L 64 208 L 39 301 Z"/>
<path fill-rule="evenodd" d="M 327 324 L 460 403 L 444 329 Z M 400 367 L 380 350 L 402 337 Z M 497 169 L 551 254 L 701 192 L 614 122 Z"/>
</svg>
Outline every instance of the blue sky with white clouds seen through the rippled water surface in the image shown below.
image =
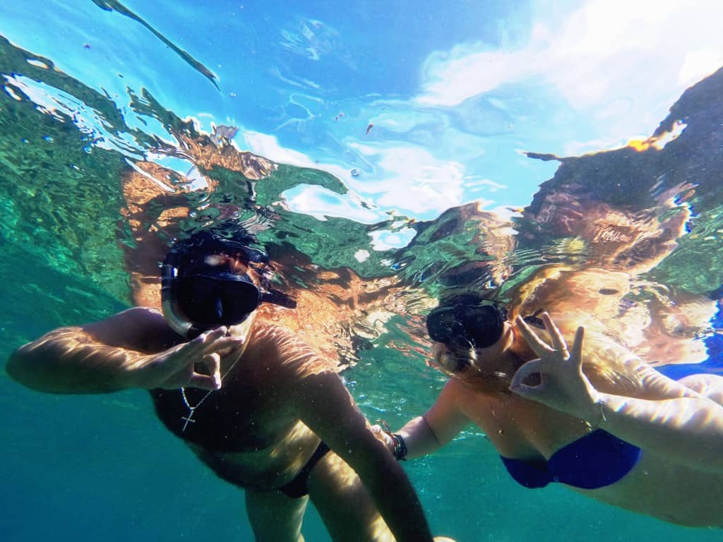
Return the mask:
<svg viewBox="0 0 723 542">
<path fill-rule="evenodd" d="M 286 194 L 320 219 L 525 205 L 556 163 L 522 150 L 579 155 L 647 137 L 685 87 L 723 65 L 714 0 L 125 5 L 213 70 L 219 90 L 138 22 L 90 0 L 6 2 L 0 33 L 121 109 L 126 87 L 147 88 L 206 128 L 238 125 L 243 150 L 334 173 L 348 194 Z M 73 107 L 33 82 L 12 85 Z M 103 129 L 93 112 L 80 118 Z"/>
</svg>

